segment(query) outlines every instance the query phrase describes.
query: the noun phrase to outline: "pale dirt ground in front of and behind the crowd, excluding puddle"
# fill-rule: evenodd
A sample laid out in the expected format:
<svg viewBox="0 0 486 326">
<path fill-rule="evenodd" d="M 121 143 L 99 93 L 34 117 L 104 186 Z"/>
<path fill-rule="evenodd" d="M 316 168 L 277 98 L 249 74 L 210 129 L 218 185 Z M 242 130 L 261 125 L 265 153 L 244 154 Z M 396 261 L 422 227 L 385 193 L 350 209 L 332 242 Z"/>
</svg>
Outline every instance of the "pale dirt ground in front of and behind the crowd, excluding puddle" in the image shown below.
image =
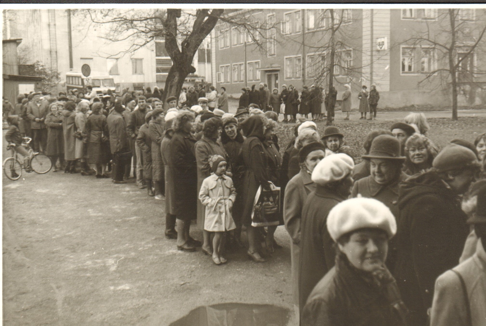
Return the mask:
<svg viewBox="0 0 486 326">
<path fill-rule="evenodd" d="M 399 119 L 406 113 L 387 114 Z M 486 112 L 464 115 L 471 118 L 458 125 L 434 122 L 433 138 L 470 140 L 485 129 Z M 367 129 L 370 123 L 381 126 L 381 120 L 352 124 L 360 130 L 360 124 Z M 175 240 L 163 234 L 164 201 L 148 197 L 133 182 L 115 185 L 62 172 L 24 172 L 10 181 L 2 174 L 4 325 L 165 326 L 199 306 L 228 302 L 292 311 L 289 237 L 283 227 L 276 239 L 284 248 L 268 262 L 255 264 L 242 251 L 215 266 L 199 250 L 176 250 Z M 202 239 L 201 231 L 192 229 L 192 236 Z M 288 325 L 296 325 L 295 316 Z"/>
</svg>

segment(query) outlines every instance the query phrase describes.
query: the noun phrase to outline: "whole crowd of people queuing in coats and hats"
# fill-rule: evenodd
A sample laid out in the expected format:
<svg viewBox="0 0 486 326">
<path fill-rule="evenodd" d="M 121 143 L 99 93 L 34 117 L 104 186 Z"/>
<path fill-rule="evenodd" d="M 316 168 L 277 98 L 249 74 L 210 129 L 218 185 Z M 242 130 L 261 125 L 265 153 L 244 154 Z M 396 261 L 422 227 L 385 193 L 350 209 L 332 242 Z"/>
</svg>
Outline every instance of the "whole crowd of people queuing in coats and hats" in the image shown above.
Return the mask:
<svg viewBox="0 0 486 326">
<path fill-rule="evenodd" d="M 374 91 L 360 92 L 363 119 L 376 114 Z M 166 109 L 150 89 L 20 95 L 5 138 L 23 155 L 31 136 L 54 171 L 111 171 L 117 184 L 133 173 L 148 196 L 165 197 L 176 248 L 201 247 L 215 265 L 239 250 L 271 259 L 284 225 L 301 325 L 484 325 L 486 133 L 439 150 L 423 113 L 411 113 L 371 131 L 355 164 L 338 127 L 320 135 L 305 117 L 325 113 L 319 87 L 304 88 L 296 109 L 292 86 L 278 94 L 254 85 L 235 114 L 225 92 L 189 87 Z M 288 144 L 278 143 L 280 108 L 295 121 Z M 202 241 L 191 237 L 193 220 Z"/>
</svg>

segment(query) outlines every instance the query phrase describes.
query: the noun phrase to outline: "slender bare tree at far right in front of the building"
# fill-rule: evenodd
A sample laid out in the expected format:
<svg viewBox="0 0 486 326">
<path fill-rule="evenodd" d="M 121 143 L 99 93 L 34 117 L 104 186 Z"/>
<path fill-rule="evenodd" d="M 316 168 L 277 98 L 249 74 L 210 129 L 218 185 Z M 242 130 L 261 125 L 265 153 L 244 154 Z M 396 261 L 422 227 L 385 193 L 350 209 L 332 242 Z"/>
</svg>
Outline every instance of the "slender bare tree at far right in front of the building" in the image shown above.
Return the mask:
<svg viewBox="0 0 486 326">
<path fill-rule="evenodd" d="M 441 85 L 444 89 L 450 87 L 452 120 L 457 120 L 460 86 L 474 88 L 475 79 L 486 73 L 474 64 L 474 55 L 485 53 L 483 37 L 486 32 L 485 19 L 479 15 L 475 17 L 474 13 L 474 9 L 443 10 L 433 23 L 427 23 L 423 30 L 415 31 L 413 37 L 402 43 L 433 51 L 430 55 L 436 64 L 422 60 L 420 70 L 416 71 L 424 75 L 419 85 L 429 83 L 435 87 Z M 469 96 L 474 98 L 474 95 Z"/>
</svg>

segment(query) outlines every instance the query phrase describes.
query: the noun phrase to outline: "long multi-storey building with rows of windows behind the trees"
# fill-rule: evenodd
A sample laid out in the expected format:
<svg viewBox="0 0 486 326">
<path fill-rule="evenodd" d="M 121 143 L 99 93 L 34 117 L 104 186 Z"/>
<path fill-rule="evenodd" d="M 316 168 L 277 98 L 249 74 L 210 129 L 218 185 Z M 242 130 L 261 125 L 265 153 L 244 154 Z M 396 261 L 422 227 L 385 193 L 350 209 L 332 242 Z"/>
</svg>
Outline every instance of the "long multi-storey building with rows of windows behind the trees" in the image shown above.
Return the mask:
<svg viewBox="0 0 486 326">
<path fill-rule="evenodd" d="M 485 13 L 484 9 L 461 9 L 456 18 L 461 26 L 457 35 L 468 31 L 471 36 L 479 35 L 485 24 Z M 253 26 L 260 26 L 251 30 L 238 24 L 221 23 L 212 33 L 213 75 L 217 77 L 217 86 L 224 86 L 236 98 L 242 87 L 255 84 L 258 88 L 259 83 L 279 91 L 282 85 L 290 84 L 299 91 L 304 85 L 326 88 L 330 25 L 334 22 L 337 31 L 333 84 L 338 99 L 344 91 L 343 85 L 349 83 L 356 108 L 361 87 L 366 85 L 369 90 L 374 84 L 380 91 L 380 107 L 451 105 L 450 80 L 438 71 L 448 67 L 447 56 L 438 46 L 434 48 L 417 40 L 428 31 L 429 38 L 437 43 L 449 44 L 451 33 L 444 32 L 450 23 L 448 9 L 335 9 L 334 19 L 330 10 L 324 9 L 245 10 L 232 14 L 238 17 L 235 20 L 244 17 Z M 460 57 L 467 53 L 473 39 L 459 40 L 463 46 L 457 47 L 459 50 L 454 55 Z M 483 39 L 463 61 L 468 71 L 486 71 L 485 43 Z M 483 74 L 470 76 L 469 82 L 480 86 L 486 81 Z M 467 93 L 469 86 L 464 82 L 460 105 L 481 101 L 481 96 L 471 101 Z"/>
</svg>

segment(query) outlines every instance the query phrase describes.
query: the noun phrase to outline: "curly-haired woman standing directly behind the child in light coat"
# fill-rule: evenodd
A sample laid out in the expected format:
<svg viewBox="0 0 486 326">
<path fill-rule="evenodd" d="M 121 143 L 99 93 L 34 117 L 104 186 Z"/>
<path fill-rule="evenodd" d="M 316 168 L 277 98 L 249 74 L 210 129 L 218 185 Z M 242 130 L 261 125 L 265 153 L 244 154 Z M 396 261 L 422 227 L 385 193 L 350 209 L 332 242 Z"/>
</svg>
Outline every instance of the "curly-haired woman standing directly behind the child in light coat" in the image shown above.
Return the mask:
<svg viewBox="0 0 486 326">
<path fill-rule="evenodd" d="M 208 163 L 209 157 L 213 155 L 221 155 L 226 162 L 230 162 L 225 147 L 219 140 L 223 123 L 220 118 L 210 118 L 204 122 L 203 125 L 203 137 L 194 146 L 195 156 L 197 160 L 197 191 L 201 189 L 201 185 L 204 179 L 208 178 L 211 174 L 211 166 Z M 231 171 L 231 167 L 227 166 L 226 171 Z M 205 219 L 205 206 L 201 201 L 197 201 L 197 222 L 199 225 L 204 226 Z M 210 232 L 203 229 L 204 243 L 202 251 L 205 254 L 212 255 Z"/>
</svg>

